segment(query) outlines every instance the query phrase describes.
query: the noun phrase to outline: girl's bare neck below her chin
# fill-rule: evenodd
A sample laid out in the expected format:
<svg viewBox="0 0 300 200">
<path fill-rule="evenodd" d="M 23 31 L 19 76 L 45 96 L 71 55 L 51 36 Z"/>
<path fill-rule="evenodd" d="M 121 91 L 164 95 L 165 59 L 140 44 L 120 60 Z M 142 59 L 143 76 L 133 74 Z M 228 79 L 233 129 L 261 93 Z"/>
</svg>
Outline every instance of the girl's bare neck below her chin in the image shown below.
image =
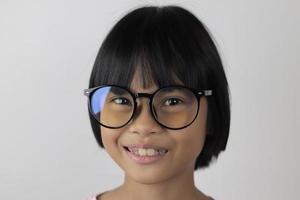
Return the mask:
<svg viewBox="0 0 300 200">
<path fill-rule="evenodd" d="M 206 199 L 194 184 L 193 169 L 175 177 L 155 183 L 142 183 L 125 175 L 125 181 L 118 189 L 120 196 L 132 200 L 199 200 Z"/>
</svg>

